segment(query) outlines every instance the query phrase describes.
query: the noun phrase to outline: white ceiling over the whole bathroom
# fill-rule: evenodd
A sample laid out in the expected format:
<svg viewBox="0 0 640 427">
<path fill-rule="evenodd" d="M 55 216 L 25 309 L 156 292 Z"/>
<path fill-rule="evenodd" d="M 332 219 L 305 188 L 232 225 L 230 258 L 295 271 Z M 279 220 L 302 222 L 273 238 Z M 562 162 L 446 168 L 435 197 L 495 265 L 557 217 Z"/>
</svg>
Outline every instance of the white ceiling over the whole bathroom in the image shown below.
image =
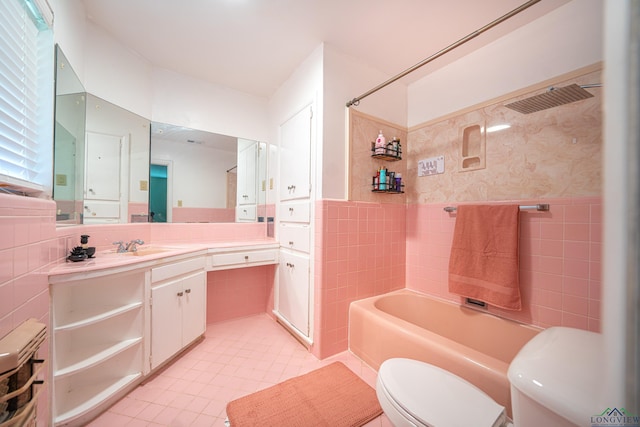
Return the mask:
<svg viewBox="0 0 640 427">
<path fill-rule="evenodd" d="M 526 0 L 82 1 L 91 21 L 154 66 L 262 97 L 272 95 L 322 42 L 391 77 L 526 3 Z M 568 1 L 541 0 L 402 82 L 409 84 Z"/>
</svg>

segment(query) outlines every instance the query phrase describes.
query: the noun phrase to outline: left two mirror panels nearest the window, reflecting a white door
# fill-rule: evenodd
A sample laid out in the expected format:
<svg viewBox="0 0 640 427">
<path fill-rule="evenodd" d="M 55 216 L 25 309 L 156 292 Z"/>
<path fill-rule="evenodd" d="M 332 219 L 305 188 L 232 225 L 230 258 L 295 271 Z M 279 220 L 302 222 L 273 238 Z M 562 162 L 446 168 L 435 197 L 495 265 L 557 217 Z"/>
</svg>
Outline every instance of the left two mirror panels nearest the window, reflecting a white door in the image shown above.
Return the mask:
<svg viewBox="0 0 640 427">
<path fill-rule="evenodd" d="M 85 92 L 59 47 L 55 79 L 58 224 L 147 221 L 149 120 Z"/>
</svg>

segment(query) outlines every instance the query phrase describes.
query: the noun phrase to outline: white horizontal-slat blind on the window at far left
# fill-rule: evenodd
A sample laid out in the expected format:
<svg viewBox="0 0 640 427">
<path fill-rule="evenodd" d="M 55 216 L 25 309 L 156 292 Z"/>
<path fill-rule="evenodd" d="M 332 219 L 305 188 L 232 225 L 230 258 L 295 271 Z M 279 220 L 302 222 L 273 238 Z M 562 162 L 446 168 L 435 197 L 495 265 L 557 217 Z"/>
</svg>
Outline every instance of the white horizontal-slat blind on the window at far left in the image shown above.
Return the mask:
<svg viewBox="0 0 640 427">
<path fill-rule="evenodd" d="M 53 37 L 33 4 L 0 8 L 0 185 L 51 187 Z"/>
</svg>

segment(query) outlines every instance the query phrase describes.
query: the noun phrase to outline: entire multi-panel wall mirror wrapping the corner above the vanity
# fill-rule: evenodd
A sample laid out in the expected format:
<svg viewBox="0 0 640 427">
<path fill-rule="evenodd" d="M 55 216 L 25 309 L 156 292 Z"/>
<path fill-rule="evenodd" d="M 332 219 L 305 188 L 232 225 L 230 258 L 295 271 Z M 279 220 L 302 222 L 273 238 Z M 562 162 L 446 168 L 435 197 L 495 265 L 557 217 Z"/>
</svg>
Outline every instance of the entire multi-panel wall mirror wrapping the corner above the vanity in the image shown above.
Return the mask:
<svg viewBox="0 0 640 427">
<path fill-rule="evenodd" d="M 58 46 L 55 79 L 59 225 L 272 220 L 268 144 L 151 123 L 87 93 Z"/>
</svg>

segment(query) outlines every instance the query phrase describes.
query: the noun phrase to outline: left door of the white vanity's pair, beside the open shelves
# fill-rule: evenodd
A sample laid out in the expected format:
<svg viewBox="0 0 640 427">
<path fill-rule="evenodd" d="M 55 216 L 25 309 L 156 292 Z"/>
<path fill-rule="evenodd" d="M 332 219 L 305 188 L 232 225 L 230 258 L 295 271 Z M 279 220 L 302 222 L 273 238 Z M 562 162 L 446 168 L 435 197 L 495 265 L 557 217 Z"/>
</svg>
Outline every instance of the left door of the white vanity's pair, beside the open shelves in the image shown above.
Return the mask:
<svg viewBox="0 0 640 427">
<path fill-rule="evenodd" d="M 182 348 L 181 293 L 181 279 L 151 288 L 151 369 Z"/>
</svg>

